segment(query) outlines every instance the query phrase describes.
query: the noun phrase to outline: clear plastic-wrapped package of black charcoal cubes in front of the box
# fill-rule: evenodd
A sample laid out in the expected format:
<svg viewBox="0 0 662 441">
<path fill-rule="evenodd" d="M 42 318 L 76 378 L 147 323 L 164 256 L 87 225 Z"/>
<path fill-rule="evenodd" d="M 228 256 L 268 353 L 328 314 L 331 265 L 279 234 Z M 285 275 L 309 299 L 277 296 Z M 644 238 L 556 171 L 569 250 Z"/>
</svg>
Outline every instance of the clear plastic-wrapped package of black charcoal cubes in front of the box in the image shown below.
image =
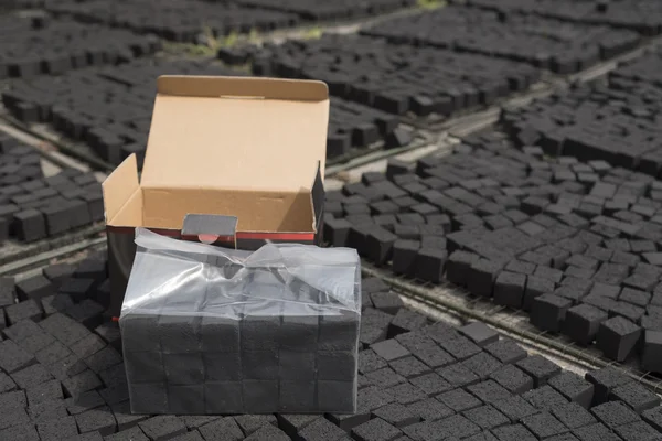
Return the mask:
<svg viewBox="0 0 662 441">
<path fill-rule="evenodd" d="M 134 413 L 353 413 L 355 250 L 254 252 L 136 229 L 119 325 Z"/>
</svg>

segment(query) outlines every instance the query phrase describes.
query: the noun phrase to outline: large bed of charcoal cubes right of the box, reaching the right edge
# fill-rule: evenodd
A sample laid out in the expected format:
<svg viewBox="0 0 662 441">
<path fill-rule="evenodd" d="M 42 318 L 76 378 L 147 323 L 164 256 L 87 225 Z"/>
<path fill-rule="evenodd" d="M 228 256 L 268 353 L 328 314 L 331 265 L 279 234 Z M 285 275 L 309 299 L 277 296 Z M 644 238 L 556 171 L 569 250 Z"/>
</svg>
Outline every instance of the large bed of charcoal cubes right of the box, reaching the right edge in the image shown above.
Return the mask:
<svg viewBox="0 0 662 441">
<path fill-rule="evenodd" d="M 548 332 L 662 372 L 662 183 L 605 161 L 543 158 L 490 132 L 415 170 L 330 192 L 328 239 L 396 273 L 442 278 Z"/>
</svg>

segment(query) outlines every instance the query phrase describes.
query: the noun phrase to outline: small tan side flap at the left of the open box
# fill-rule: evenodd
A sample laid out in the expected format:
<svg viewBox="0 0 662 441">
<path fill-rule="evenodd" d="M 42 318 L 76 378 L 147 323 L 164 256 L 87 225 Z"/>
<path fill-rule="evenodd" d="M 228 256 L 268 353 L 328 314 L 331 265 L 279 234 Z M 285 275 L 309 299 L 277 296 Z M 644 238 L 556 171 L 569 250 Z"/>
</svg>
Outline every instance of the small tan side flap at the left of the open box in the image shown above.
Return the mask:
<svg viewBox="0 0 662 441">
<path fill-rule="evenodd" d="M 114 225 L 117 215 L 129 203 L 135 193 L 140 193 L 136 154 L 125 159 L 102 184 L 106 223 Z"/>
</svg>

